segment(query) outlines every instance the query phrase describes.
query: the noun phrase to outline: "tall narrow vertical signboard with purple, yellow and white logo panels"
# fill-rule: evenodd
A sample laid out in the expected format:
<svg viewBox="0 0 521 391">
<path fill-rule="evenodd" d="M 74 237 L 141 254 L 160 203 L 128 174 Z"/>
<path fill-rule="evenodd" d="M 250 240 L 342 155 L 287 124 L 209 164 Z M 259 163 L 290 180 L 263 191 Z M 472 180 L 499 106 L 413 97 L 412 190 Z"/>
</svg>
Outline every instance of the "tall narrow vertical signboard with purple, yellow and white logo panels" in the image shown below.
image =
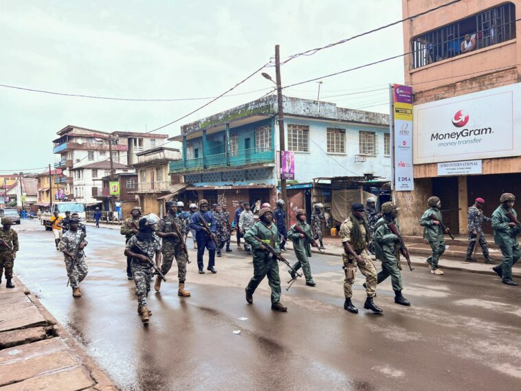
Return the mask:
<svg viewBox="0 0 521 391">
<path fill-rule="evenodd" d="M 412 87 L 392 86 L 392 148 L 394 161 L 394 190 L 414 190 L 412 170 Z"/>
</svg>

